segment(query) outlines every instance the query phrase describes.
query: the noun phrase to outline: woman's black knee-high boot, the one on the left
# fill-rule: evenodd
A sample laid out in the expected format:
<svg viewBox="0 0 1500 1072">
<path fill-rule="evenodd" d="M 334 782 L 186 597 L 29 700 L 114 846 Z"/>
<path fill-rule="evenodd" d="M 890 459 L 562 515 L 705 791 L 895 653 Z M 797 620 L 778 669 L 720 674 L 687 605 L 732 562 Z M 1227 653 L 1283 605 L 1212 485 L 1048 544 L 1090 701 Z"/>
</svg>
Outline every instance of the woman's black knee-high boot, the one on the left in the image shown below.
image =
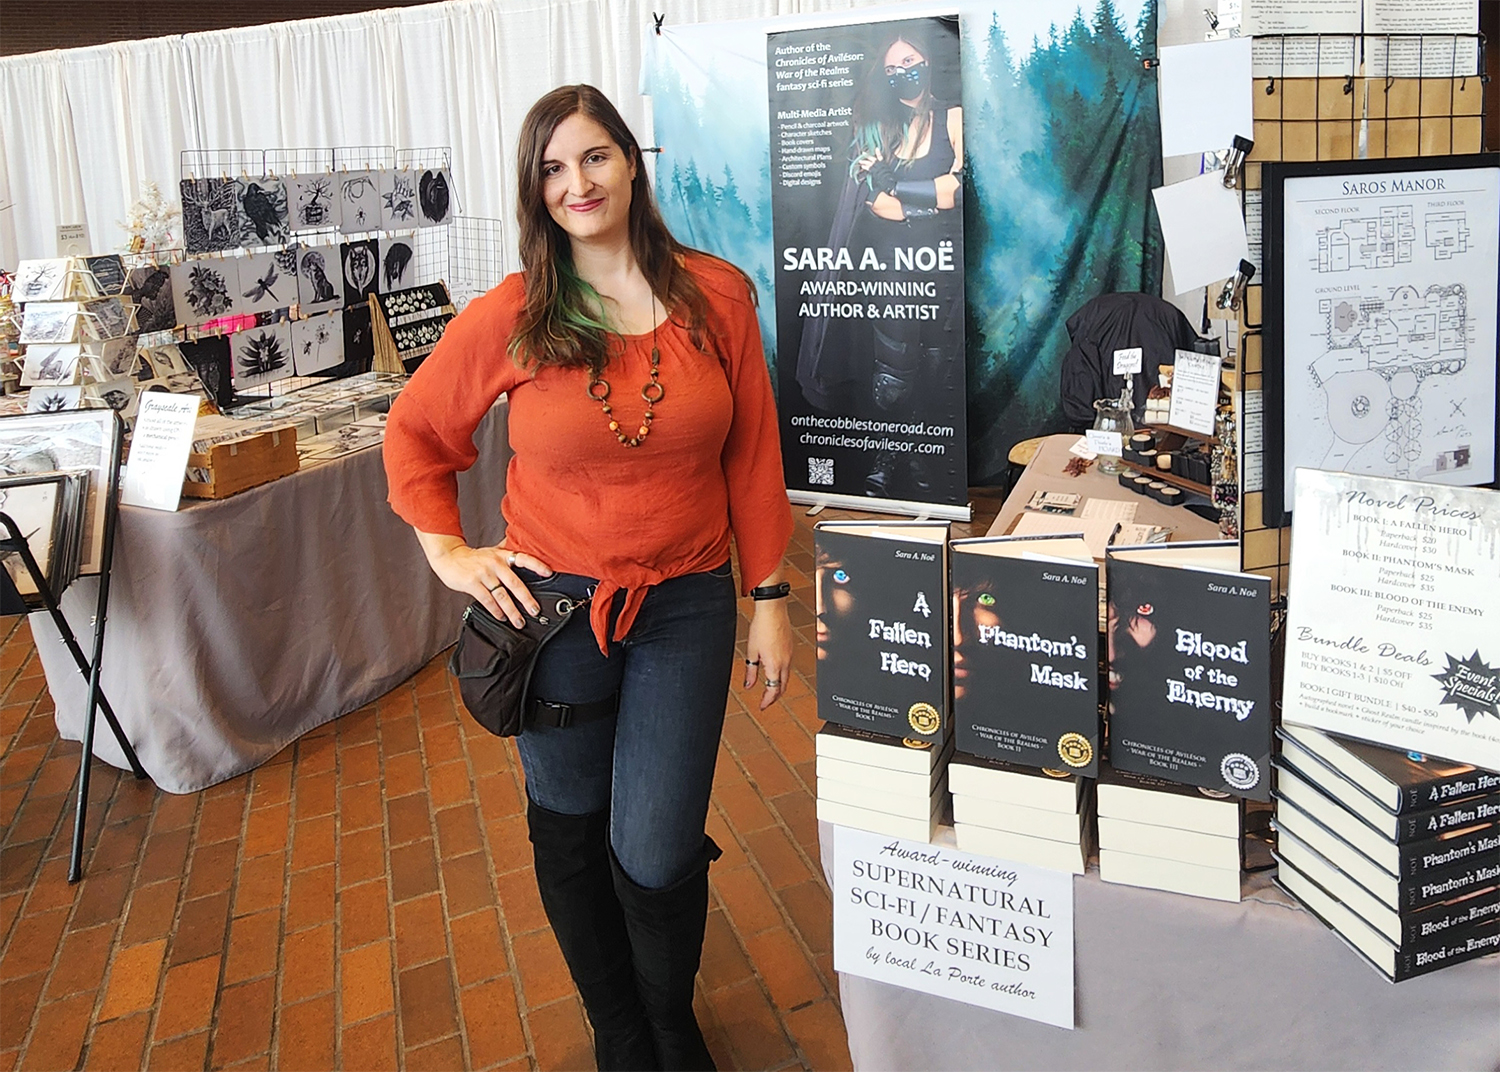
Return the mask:
<svg viewBox="0 0 1500 1072">
<path fill-rule="evenodd" d="M 564 816 L 528 798 L 526 826 L 542 907 L 594 1026 L 600 1072 L 660 1069 L 610 876 L 609 814 Z"/>
</svg>

